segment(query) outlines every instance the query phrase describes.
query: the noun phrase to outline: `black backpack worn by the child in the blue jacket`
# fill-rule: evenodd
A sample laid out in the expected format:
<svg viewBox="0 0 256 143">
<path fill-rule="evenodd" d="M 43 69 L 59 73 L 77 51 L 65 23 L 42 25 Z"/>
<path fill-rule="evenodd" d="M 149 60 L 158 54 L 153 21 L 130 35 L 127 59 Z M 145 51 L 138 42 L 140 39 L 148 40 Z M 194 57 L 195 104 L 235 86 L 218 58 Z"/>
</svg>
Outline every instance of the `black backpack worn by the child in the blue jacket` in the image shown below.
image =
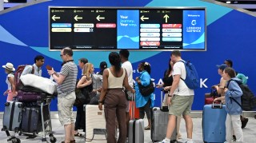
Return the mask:
<svg viewBox="0 0 256 143">
<path fill-rule="evenodd" d="M 231 79 L 230 81 L 235 81 L 235 80 Z M 230 85 L 230 81 L 228 82 L 226 87 L 228 87 Z M 230 97 L 230 99 L 235 101 L 245 111 L 250 111 L 250 110 L 254 109 L 254 107 L 256 106 L 256 97 L 254 97 L 254 93 L 251 92 L 251 90 L 249 89 L 249 87 L 247 85 L 243 85 L 242 83 L 240 83 L 238 81 L 236 81 L 236 82 L 238 83 L 240 89 L 242 90 L 242 97 L 241 97 L 242 105 L 240 103 L 238 103 L 238 101 L 235 100 L 234 97 Z"/>
</svg>

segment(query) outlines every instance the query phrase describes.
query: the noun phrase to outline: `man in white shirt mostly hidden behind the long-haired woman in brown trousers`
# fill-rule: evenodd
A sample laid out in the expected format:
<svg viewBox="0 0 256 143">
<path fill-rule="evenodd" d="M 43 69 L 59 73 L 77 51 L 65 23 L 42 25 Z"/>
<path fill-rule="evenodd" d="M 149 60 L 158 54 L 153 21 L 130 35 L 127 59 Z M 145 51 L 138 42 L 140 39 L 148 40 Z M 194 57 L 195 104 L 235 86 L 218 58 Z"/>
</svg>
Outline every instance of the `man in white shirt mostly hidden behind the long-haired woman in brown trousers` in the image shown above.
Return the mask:
<svg viewBox="0 0 256 143">
<path fill-rule="evenodd" d="M 133 87 L 133 85 L 134 85 L 133 66 L 128 61 L 130 53 L 128 50 L 120 50 L 119 55 L 120 55 L 121 62 L 122 62 L 122 68 L 126 69 L 126 72 L 127 72 L 128 83 L 131 87 Z M 129 91 L 127 92 L 127 94 L 129 95 L 129 97 L 133 96 L 133 94 L 130 93 Z M 129 125 L 129 121 L 130 121 L 129 109 L 130 109 L 130 101 L 128 101 L 127 97 L 126 97 L 126 125 L 127 125 L 127 127 Z M 128 134 L 128 128 L 127 128 L 127 134 Z"/>
</svg>

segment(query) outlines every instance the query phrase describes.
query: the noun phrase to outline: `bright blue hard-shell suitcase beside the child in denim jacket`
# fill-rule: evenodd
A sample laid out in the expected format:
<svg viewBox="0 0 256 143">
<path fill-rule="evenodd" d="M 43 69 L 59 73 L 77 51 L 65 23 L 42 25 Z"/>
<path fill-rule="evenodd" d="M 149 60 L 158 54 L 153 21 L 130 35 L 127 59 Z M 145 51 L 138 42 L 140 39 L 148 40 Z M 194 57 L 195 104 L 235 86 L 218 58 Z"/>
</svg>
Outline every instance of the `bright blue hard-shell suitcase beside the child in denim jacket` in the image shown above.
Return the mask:
<svg viewBox="0 0 256 143">
<path fill-rule="evenodd" d="M 202 112 L 202 137 L 204 142 L 226 141 L 225 105 L 204 105 Z"/>
</svg>

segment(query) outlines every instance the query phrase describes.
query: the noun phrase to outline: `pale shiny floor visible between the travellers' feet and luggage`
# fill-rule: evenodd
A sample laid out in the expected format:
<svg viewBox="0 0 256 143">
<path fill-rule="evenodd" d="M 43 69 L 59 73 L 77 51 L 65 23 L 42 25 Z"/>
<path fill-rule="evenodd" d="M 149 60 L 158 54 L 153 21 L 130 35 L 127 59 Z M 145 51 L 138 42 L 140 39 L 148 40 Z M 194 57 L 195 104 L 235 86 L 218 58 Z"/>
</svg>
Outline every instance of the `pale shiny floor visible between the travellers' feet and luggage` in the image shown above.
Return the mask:
<svg viewBox="0 0 256 143">
<path fill-rule="evenodd" d="M 202 143 L 202 118 L 193 118 L 194 122 L 194 131 L 193 131 L 193 138 L 195 143 Z M 58 119 L 52 119 L 53 123 L 53 131 L 54 131 L 54 137 L 57 138 L 57 143 L 60 143 L 63 141 L 64 137 L 64 130 L 63 127 L 60 125 Z M 147 125 L 147 122 L 145 120 L 145 125 Z M 2 119 L 0 119 L 0 129 L 2 129 Z M 185 122 L 182 120 L 181 123 L 181 129 L 182 137 L 186 138 L 186 129 L 185 129 Z M 256 137 L 256 119 L 250 118 L 248 124 L 246 125 L 246 128 L 243 129 L 244 133 L 244 143 L 254 143 L 255 137 Z M 26 139 L 26 136 L 18 136 L 16 133 L 16 136 L 21 139 L 22 142 L 24 143 L 38 143 L 42 142 L 42 135 L 39 134 L 38 137 L 35 137 L 34 139 Z M 41 137 L 40 137 L 41 136 Z M 95 135 L 95 140 L 90 141 L 91 143 L 106 143 L 105 136 L 102 135 Z M 46 136 L 47 142 L 50 142 L 50 138 L 47 135 Z M 75 138 L 76 142 L 82 143 L 85 142 L 84 138 L 82 137 L 76 137 Z M 1 143 L 6 143 L 7 142 L 7 137 L 5 132 L 0 132 L 0 142 Z M 88 141 L 86 141 L 88 142 Z M 146 143 L 151 143 L 152 141 L 150 140 L 150 131 L 146 130 L 145 131 L 145 141 Z M 185 142 L 185 139 L 179 140 L 179 142 Z"/>
</svg>

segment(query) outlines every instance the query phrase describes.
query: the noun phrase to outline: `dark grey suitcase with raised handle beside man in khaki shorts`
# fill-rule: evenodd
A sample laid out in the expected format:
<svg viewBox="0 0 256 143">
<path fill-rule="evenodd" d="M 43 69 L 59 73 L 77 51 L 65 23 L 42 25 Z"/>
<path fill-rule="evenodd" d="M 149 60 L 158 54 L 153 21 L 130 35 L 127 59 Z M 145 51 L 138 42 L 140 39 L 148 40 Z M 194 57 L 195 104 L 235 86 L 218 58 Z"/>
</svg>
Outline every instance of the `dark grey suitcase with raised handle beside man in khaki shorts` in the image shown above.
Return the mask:
<svg viewBox="0 0 256 143">
<path fill-rule="evenodd" d="M 168 116 L 169 116 L 169 109 L 168 106 L 163 106 L 163 91 L 161 91 L 161 108 L 154 107 L 152 109 L 151 114 L 151 133 L 150 137 L 151 140 L 154 141 L 161 141 L 166 137 L 166 129 L 168 124 Z M 177 129 L 174 129 L 173 135 L 170 138 L 170 141 L 176 141 L 177 138 Z"/>
</svg>

